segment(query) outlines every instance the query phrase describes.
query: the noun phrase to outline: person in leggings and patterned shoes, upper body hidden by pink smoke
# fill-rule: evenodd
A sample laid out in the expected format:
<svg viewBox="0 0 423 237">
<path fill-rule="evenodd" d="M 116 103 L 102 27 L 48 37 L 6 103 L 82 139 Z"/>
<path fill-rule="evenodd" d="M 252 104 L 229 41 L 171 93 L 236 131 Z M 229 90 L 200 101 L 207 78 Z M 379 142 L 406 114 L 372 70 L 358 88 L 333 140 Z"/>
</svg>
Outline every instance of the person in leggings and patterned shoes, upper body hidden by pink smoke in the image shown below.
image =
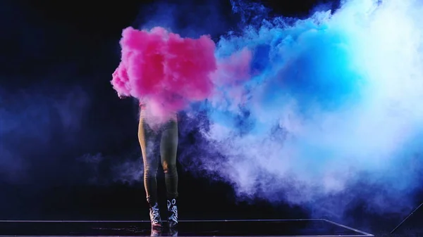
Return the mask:
<svg viewBox="0 0 423 237">
<path fill-rule="evenodd" d="M 119 95 L 120 98 L 123 96 Z M 149 203 L 149 216 L 153 229 L 161 229 L 161 215 L 157 203 L 157 169 L 159 162 L 164 169 L 167 191 L 168 226 L 175 228 L 178 224 L 178 172 L 176 170 L 176 151 L 178 149 L 178 120 L 172 113 L 168 120 L 159 127 L 150 126 L 146 106 L 140 103 L 140 123 L 138 124 L 138 140 L 140 141 L 142 160 L 144 162 L 144 187 Z M 157 149 L 159 148 L 159 149 Z M 156 150 L 160 155 L 156 155 Z M 159 158 L 160 156 L 160 158 Z"/>
</svg>

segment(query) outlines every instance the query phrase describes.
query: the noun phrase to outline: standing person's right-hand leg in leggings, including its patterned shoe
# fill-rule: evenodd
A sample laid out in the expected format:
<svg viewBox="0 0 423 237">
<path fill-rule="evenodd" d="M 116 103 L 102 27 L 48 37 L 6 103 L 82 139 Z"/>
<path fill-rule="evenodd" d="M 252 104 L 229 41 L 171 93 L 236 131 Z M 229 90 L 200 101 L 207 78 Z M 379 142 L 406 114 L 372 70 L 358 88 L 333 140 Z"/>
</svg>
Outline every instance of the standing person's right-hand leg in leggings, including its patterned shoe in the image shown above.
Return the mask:
<svg viewBox="0 0 423 237">
<path fill-rule="evenodd" d="M 178 150 L 178 122 L 176 117 L 163 128 L 160 142 L 161 164 L 167 191 L 168 222 L 171 227 L 178 224 L 178 171 L 176 170 L 176 152 Z"/>
</svg>

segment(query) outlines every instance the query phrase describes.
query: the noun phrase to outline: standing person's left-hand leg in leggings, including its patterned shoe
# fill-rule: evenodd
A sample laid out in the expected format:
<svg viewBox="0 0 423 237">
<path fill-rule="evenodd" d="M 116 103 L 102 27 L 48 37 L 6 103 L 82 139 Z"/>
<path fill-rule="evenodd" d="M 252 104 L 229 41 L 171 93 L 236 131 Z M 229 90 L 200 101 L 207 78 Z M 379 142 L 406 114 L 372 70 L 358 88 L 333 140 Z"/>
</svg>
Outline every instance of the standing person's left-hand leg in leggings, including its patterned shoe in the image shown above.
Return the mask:
<svg viewBox="0 0 423 237">
<path fill-rule="evenodd" d="M 138 141 L 140 141 L 142 160 L 144 162 L 144 187 L 150 206 L 150 219 L 153 227 L 161 226 L 159 206 L 157 205 L 157 168 L 159 159 L 154 154 L 157 134 L 145 122 L 145 110 L 140 111 L 138 124 Z"/>
</svg>

